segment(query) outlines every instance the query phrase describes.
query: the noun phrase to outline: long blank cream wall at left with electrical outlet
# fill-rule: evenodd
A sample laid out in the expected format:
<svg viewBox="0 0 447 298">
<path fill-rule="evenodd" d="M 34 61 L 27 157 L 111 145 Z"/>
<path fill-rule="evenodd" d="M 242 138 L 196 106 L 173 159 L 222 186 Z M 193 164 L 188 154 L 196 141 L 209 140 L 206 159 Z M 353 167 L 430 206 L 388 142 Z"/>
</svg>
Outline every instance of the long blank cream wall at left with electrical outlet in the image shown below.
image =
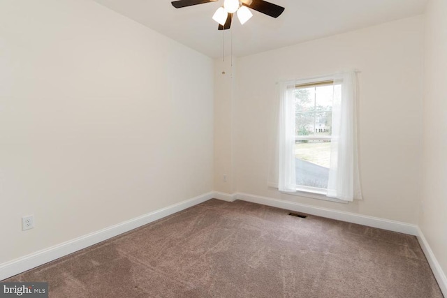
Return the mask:
<svg viewBox="0 0 447 298">
<path fill-rule="evenodd" d="M 213 71 L 93 1 L 2 0 L 0 264 L 212 191 Z"/>
</svg>

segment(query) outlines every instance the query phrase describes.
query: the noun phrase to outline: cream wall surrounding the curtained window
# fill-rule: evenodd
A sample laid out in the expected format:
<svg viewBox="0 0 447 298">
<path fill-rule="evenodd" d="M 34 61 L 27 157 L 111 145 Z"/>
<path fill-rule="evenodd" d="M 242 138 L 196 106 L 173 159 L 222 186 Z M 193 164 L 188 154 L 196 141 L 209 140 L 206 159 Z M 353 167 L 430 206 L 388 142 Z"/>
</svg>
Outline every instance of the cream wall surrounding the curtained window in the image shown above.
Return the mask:
<svg viewBox="0 0 447 298">
<path fill-rule="evenodd" d="M 365 200 L 340 204 L 269 188 L 275 82 L 352 68 L 361 71 L 360 167 Z M 417 223 L 422 70 L 422 16 L 237 59 L 232 113 L 237 192 Z M 216 166 L 214 172 L 221 174 Z"/>
</svg>

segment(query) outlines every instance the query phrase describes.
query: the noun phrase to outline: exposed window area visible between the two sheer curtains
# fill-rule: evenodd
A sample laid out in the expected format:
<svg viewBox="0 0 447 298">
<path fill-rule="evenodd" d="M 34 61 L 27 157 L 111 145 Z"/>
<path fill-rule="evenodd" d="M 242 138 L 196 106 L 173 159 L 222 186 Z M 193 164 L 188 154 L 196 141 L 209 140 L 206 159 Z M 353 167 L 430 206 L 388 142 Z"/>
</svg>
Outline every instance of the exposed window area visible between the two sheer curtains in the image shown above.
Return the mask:
<svg viewBox="0 0 447 298">
<path fill-rule="evenodd" d="M 325 193 L 331 156 L 332 103 L 340 85 L 332 80 L 295 86 L 297 189 Z"/>
</svg>

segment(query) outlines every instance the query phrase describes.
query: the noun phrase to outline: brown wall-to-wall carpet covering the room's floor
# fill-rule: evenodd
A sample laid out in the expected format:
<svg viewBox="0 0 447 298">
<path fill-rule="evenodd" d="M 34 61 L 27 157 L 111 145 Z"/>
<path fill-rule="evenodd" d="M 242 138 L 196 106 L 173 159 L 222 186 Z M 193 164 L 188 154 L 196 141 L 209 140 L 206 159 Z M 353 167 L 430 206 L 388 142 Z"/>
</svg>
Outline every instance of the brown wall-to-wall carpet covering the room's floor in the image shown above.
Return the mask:
<svg viewBox="0 0 447 298">
<path fill-rule="evenodd" d="M 9 278 L 50 297 L 443 297 L 416 237 L 209 200 Z"/>
</svg>

